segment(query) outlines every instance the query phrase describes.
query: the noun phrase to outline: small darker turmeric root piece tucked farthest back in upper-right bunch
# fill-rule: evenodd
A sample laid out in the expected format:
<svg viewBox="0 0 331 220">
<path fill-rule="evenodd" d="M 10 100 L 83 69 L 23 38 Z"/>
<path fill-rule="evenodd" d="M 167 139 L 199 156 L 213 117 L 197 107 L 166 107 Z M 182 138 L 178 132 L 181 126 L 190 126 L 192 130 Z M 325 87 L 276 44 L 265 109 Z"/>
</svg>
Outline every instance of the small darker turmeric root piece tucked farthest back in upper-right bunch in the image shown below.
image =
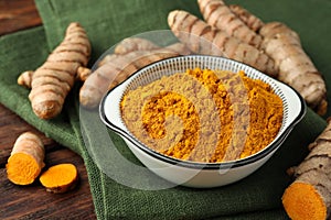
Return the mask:
<svg viewBox="0 0 331 220">
<path fill-rule="evenodd" d="M 228 8 L 231 11 L 236 14 L 252 31 L 258 33 L 260 28 L 265 25 L 265 23 L 253 13 L 244 9 L 238 4 L 229 4 Z"/>
</svg>

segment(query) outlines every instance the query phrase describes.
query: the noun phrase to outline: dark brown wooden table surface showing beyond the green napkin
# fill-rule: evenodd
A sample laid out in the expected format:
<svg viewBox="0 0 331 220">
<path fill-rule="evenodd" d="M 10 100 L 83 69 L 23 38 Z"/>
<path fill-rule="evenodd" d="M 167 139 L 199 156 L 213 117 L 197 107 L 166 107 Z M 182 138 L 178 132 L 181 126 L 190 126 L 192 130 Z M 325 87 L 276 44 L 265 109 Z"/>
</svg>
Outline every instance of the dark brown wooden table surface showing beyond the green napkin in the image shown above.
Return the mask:
<svg viewBox="0 0 331 220">
<path fill-rule="evenodd" d="M 0 0 L 0 37 L 41 25 L 33 0 Z M 6 163 L 15 139 L 24 131 L 38 133 L 46 150 L 47 165 L 73 163 L 78 186 L 66 194 L 47 193 L 40 183 L 17 186 L 8 180 Z M 0 219 L 96 219 L 83 160 L 28 124 L 0 103 Z"/>
</svg>

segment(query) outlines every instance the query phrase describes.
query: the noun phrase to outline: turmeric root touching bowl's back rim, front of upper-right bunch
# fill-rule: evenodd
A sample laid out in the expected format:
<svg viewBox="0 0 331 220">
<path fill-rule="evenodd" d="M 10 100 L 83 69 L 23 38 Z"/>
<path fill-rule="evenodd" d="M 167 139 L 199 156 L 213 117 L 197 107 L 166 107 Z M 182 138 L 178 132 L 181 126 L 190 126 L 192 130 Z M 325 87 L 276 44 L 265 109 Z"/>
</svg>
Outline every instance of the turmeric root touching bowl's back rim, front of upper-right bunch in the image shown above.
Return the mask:
<svg viewBox="0 0 331 220">
<path fill-rule="evenodd" d="M 191 51 L 199 54 L 223 55 L 246 63 L 273 77 L 277 76 L 275 63 L 256 47 L 229 36 L 224 31 L 214 30 L 199 18 L 185 11 L 174 10 L 168 15 L 168 24 L 174 35 Z M 213 46 L 217 47 L 213 51 Z M 217 54 L 221 51 L 221 54 Z M 215 53 L 216 52 L 216 53 Z"/>
</svg>

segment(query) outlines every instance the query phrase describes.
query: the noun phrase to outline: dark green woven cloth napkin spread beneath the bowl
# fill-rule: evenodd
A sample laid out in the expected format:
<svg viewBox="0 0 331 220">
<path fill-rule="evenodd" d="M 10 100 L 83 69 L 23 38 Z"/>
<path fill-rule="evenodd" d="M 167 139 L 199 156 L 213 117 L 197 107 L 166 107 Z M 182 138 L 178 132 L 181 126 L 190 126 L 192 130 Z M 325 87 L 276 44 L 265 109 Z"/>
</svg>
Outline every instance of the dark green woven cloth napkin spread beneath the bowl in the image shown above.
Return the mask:
<svg viewBox="0 0 331 220">
<path fill-rule="evenodd" d="M 109 136 L 120 155 L 139 162 L 124 141 L 103 127 L 97 111 L 79 108 L 78 85 L 70 94 L 61 116 L 38 119 L 28 100 L 29 91 L 17 85 L 17 77 L 34 69 L 63 38 L 71 21 L 87 30 L 93 45 L 89 66 L 120 40 L 147 31 L 166 30 L 167 15 L 173 9 L 188 10 L 199 16 L 195 1 L 169 0 L 36 0 L 43 26 L 0 37 L 0 101 L 47 136 L 78 153 L 86 165 L 98 219 L 287 219 L 281 206 L 284 189 L 292 179 L 286 169 L 297 165 L 308 153 L 307 145 L 324 129 L 323 118 L 308 110 L 280 150 L 260 169 L 245 179 L 220 188 L 192 189 L 172 187 L 161 190 L 139 189 L 168 186 L 146 169 L 121 172 L 114 155 L 100 154 Z M 327 0 L 243 1 L 241 3 L 264 21 L 284 21 L 301 36 L 302 45 L 331 85 L 331 45 L 328 43 L 331 2 Z M 330 97 L 330 92 L 328 94 Z M 331 106 L 331 105 L 330 105 Z M 331 111 L 329 108 L 328 116 Z M 96 132 L 95 129 L 99 129 Z M 109 135 L 102 135 L 108 132 Z M 96 161 L 95 158 L 102 158 Z M 108 161 L 107 161 L 108 160 Z M 103 162 L 103 163 L 100 163 Z M 141 166 L 140 166 L 141 167 Z M 114 173 L 108 173 L 114 170 Z M 129 177 L 128 177 L 129 176 Z M 120 179 L 131 179 L 121 184 Z M 118 180 L 119 179 L 119 180 Z M 129 185 L 129 186 L 128 186 Z M 136 187 L 135 187 L 136 186 Z"/>
</svg>

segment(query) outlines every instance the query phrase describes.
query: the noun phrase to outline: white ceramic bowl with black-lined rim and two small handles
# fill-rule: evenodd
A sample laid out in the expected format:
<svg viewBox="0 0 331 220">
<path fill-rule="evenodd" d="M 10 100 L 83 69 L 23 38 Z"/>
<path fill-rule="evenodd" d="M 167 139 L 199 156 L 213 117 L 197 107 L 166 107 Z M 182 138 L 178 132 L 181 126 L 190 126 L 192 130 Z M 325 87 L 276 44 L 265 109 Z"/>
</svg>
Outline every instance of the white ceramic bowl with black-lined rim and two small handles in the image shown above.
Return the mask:
<svg viewBox="0 0 331 220">
<path fill-rule="evenodd" d="M 137 140 L 121 118 L 120 101 L 124 95 L 128 90 L 147 85 L 162 76 L 184 73 L 188 68 L 195 67 L 233 73 L 244 70 L 248 77 L 269 84 L 284 105 L 282 124 L 275 140 L 254 155 L 223 163 L 177 160 L 160 154 Z M 125 140 L 132 153 L 150 170 L 178 185 L 206 188 L 237 182 L 265 164 L 279 148 L 292 128 L 303 118 L 306 105 L 301 96 L 292 88 L 243 63 L 216 56 L 188 55 L 163 59 L 138 70 L 103 98 L 99 113 L 103 122 Z"/>
</svg>

